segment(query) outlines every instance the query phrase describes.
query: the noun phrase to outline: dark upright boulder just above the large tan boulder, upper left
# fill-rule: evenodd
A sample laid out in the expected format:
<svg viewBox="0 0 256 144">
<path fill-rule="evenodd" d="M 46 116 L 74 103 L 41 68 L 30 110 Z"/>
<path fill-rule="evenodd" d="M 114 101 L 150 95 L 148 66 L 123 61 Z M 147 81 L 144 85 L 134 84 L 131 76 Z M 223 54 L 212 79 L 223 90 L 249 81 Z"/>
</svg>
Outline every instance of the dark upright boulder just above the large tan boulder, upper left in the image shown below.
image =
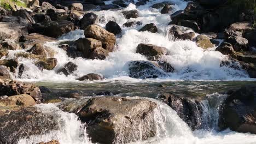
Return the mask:
<svg viewBox="0 0 256 144">
<path fill-rule="evenodd" d="M 80 20 L 79 25 L 80 28 L 85 29 L 89 25 L 93 25 L 97 19 L 97 15 L 94 13 L 87 13 L 84 17 Z"/>
</svg>

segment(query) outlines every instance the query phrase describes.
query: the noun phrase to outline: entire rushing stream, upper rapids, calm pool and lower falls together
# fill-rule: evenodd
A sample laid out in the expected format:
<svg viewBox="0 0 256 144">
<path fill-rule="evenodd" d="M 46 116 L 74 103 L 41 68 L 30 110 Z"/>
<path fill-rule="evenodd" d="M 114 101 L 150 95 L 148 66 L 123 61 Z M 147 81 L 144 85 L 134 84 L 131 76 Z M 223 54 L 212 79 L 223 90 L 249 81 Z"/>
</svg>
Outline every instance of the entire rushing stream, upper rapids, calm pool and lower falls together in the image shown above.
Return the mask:
<svg viewBox="0 0 256 144">
<path fill-rule="evenodd" d="M 197 98 L 203 97 L 201 105 L 203 107 L 204 127 L 196 131 L 191 131 L 188 125 L 169 106 L 150 99 L 158 104 L 152 116 L 158 129 L 156 136 L 147 141 L 134 143 L 256 143 L 256 136 L 253 134 L 241 134 L 230 130 L 218 131 L 218 109 L 226 95 L 216 93 L 237 89 L 244 85 L 255 85 L 255 79 L 250 79 L 246 71 L 242 69 L 234 70 L 229 67 L 220 67 L 220 62 L 228 58 L 222 53 L 214 51 L 216 47 L 203 50 L 197 47 L 193 41 L 173 41 L 172 35 L 167 33 L 171 27 L 167 26 L 171 21 L 170 14 L 161 14 L 160 9 L 150 8 L 150 5 L 163 1 L 150 1 L 137 8 L 130 4 L 129 7 L 117 11 L 95 11 L 99 17 L 96 22 L 97 25 L 105 27 L 106 23 L 112 20 L 116 21 L 123 30 L 117 36 L 114 52 L 110 53 L 104 60 L 68 57 L 66 52 L 58 48 L 57 45 L 62 41 L 84 37 L 82 30 L 73 31 L 62 35 L 57 42 L 45 44 L 56 52 L 54 57 L 57 58 L 58 63 L 54 70 L 40 71 L 33 64 L 33 59 L 19 58 L 20 63 L 28 65 L 28 69 L 20 80 L 38 81 L 38 85 L 47 86 L 54 92 L 79 90 L 86 93 L 84 96 L 91 96 L 98 91 L 111 91 L 118 96 L 156 98 L 161 92 L 174 91 L 177 94 L 186 93 L 190 96 L 196 95 Z M 176 4 L 173 12 L 184 9 L 187 5 L 187 2 L 182 0 L 172 0 L 171 2 Z M 106 3 L 110 4 L 112 1 L 106 1 Z M 121 11 L 132 9 L 139 11 L 139 17 L 126 20 Z M 131 28 L 123 27 L 125 22 L 133 20 L 141 21 L 142 25 Z M 152 22 L 158 27 L 158 33 L 138 32 L 138 29 Z M 168 55 L 163 58 L 172 64 L 175 69 L 174 73 L 161 79 L 139 80 L 129 77 L 127 63 L 136 60 L 147 61 L 146 57 L 136 53 L 136 47 L 139 43 L 166 47 Z M 15 53 L 20 51 L 26 50 L 9 51 L 7 58 L 14 58 Z M 56 74 L 56 71 L 69 61 L 77 64 L 78 69 L 69 76 Z M 239 64 L 237 65 L 239 67 Z M 106 79 L 100 82 L 87 83 L 75 80 L 75 78 L 89 73 L 102 74 Z M 18 71 L 14 76 L 18 78 L 17 75 Z M 86 136 L 85 125 L 78 121 L 78 117 L 73 113 L 63 112 L 54 104 L 40 104 L 37 107 L 42 112 L 52 113 L 58 117 L 60 130 L 21 139 L 19 143 L 37 143 L 53 139 L 59 140 L 62 144 L 91 143 Z"/>
</svg>

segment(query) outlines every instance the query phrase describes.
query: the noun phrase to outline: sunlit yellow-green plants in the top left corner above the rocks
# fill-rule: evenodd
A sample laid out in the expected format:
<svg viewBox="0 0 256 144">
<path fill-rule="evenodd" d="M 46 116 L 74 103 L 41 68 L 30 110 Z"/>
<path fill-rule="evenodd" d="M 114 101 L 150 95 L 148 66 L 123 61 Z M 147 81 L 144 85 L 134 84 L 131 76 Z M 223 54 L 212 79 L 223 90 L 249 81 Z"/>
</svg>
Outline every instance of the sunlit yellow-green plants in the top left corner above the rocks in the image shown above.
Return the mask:
<svg viewBox="0 0 256 144">
<path fill-rule="evenodd" d="M 19 7 L 27 7 L 26 3 L 20 0 L 0 0 L 0 7 L 4 9 L 11 10 L 12 8 L 14 8 L 15 4 Z"/>
</svg>

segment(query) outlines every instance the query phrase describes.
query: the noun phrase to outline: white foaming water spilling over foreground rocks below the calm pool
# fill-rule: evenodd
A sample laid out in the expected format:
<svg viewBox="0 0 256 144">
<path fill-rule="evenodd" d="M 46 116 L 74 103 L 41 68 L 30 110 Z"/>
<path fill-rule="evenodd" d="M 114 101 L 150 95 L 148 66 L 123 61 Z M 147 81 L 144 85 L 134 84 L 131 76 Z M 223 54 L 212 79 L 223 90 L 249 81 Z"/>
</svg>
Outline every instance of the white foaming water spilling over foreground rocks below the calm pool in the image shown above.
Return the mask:
<svg viewBox="0 0 256 144">
<path fill-rule="evenodd" d="M 141 97 L 127 98 L 139 99 Z M 218 131 L 218 110 L 225 98 L 226 95 L 218 93 L 207 95 L 206 100 L 201 102 L 204 115 L 203 128 L 195 131 L 192 131 L 170 106 L 152 98 L 142 98 L 152 100 L 157 104 L 152 115 L 156 128 L 156 135 L 146 141 L 137 140 L 130 144 L 254 144 L 256 142 L 256 135 L 254 134 L 237 133 L 229 129 Z M 48 113 L 59 119 L 59 131 L 52 131 L 51 133 L 44 135 L 31 136 L 26 139 L 19 140 L 18 143 L 38 143 L 40 141 L 50 141 L 53 139 L 59 140 L 61 144 L 91 143 L 90 138 L 86 134 L 86 124 L 82 124 L 74 113 L 61 111 L 57 105 L 58 104 L 40 104 L 37 105 L 37 107 L 43 113 Z M 143 133 L 142 128 L 138 128 L 138 131 L 134 134 L 139 133 Z M 117 144 L 122 144 L 121 138 L 122 137 L 120 137 L 120 142 Z"/>
</svg>

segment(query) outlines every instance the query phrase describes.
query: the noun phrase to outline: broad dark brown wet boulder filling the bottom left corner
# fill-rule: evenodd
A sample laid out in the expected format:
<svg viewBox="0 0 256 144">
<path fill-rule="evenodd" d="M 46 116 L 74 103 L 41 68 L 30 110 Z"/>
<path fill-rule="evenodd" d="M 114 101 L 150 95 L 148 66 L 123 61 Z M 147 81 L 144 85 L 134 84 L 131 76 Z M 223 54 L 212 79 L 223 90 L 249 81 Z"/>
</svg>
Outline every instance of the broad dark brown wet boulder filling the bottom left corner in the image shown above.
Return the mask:
<svg viewBox="0 0 256 144">
<path fill-rule="evenodd" d="M 4 107 L 0 115 L 0 143 L 18 143 L 21 138 L 58 129 L 56 119 L 50 114 L 38 111 L 36 107 Z"/>
</svg>

